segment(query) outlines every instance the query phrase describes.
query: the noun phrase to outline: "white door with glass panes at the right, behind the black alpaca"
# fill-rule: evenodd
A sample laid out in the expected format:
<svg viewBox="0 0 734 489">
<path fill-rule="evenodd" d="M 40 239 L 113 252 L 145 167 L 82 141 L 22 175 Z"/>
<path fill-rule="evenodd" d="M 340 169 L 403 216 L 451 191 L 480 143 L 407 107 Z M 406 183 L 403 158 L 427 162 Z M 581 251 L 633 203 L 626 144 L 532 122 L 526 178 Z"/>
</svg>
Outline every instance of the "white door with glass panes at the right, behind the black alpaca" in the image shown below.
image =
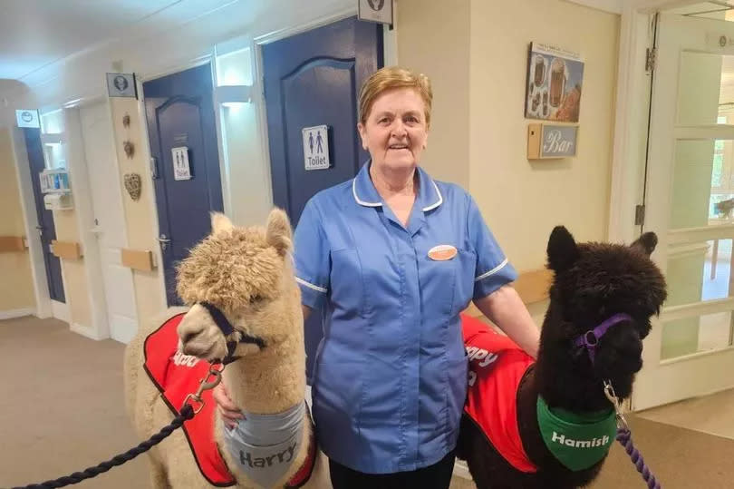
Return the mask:
<svg viewBox="0 0 734 489">
<path fill-rule="evenodd" d="M 734 387 L 732 109 L 734 23 L 661 15 L 644 230 L 660 239 L 668 300 L 645 340 L 635 409 Z"/>
</svg>

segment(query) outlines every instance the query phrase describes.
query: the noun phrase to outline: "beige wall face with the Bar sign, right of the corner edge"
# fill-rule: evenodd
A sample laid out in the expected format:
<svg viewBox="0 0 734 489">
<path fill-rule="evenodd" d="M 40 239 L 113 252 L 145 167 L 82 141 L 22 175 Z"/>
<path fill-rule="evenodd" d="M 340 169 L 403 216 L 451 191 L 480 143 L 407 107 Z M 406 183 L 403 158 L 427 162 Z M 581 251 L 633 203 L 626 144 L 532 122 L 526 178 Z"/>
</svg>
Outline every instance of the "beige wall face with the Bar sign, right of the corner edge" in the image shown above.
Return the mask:
<svg viewBox="0 0 734 489">
<path fill-rule="evenodd" d="M 611 185 L 619 15 L 559 0 L 471 4 L 470 186 L 509 259 L 541 268 L 556 224 L 605 240 Z M 524 117 L 528 44 L 584 58 L 575 158 L 529 162 Z"/>
</svg>

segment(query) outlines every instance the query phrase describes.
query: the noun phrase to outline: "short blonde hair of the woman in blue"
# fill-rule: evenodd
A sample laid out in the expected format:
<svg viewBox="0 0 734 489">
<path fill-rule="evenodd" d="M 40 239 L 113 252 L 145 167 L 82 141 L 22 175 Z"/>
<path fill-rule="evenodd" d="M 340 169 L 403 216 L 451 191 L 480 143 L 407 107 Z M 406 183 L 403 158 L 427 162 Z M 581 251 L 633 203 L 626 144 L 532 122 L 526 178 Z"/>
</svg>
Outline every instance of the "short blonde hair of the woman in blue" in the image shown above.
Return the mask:
<svg viewBox="0 0 734 489">
<path fill-rule="evenodd" d="M 372 103 L 383 92 L 396 88 L 412 88 L 423 99 L 426 106 L 426 127 L 430 127 L 430 105 L 433 102 L 433 91 L 430 80 L 423 73 L 416 74 L 399 66 L 386 66 L 372 73 L 362 84 L 360 90 L 360 122 L 367 122 L 372 111 Z"/>
</svg>

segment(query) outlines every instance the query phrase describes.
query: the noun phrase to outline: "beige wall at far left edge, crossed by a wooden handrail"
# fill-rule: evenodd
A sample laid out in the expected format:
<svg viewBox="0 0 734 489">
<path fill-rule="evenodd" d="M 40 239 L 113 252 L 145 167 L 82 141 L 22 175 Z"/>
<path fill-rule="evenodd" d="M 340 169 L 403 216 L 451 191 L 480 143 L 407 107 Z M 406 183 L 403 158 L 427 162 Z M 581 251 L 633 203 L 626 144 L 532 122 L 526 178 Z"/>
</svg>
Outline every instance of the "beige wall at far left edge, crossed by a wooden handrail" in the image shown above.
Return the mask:
<svg viewBox="0 0 734 489">
<path fill-rule="evenodd" d="M 7 129 L 0 129 L 0 210 L 0 236 L 24 236 L 23 208 Z M 27 250 L 0 253 L 0 277 L 0 313 L 35 307 Z"/>
</svg>

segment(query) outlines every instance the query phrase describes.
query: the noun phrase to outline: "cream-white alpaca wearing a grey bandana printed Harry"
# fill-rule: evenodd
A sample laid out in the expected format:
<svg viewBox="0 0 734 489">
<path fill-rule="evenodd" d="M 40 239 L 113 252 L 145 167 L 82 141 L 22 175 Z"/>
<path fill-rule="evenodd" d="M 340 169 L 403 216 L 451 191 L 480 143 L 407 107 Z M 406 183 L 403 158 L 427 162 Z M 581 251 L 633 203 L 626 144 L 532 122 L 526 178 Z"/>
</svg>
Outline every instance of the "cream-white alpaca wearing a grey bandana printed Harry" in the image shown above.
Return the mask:
<svg viewBox="0 0 734 489">
<path fill-rule="evenodd" d="M 234 354 L 240 358 L 227 365 L 222 381 L 246 421 L 240 423 L 242 429 L 226 434 L 219 416 L 208 414 L 215 418 L 211 422 L 214 440 L 236 486 L 288 487 L 304 465 L 313 431 L 308 408 L 304 408 L 304 325 L 289 254 L 291 226 L 282 210 L 273 210 L 266 229 L 236 228 L 225 216 L 215 214 L 212 230 L 179 267 L 179 296 L 190 307 L 169 308 L 142 328 L 127 347 L 128 413 L 141 438 L 157 433 L 172 420 L 169 406 L 143 369 L 145 341 L 151 331 L 185 313 L 178 326 L 183 354 L 221 359 L 227 356 L 227 341 L 237 341 Z M 217 310 L 235 328 L 227 337 L 213 318 Z M 243 338 L 249 338 L 248 342 L 239 342 Z M 178 353 L 177 364 L 185 358 Z M 201 415 L 206 416 L 203 411 Z M 278 426 L 277 431 L 267 431 L 273 425 Z M 251 446 L 254 451 L 246 448 Z M 156 489 L 215 487 L 199 471 L 181 429 L 150 451 L 150 466 Z M 313 473 L 301 487 L 331 487 L 321 452 L 316 453 Z"/>
</svg>

